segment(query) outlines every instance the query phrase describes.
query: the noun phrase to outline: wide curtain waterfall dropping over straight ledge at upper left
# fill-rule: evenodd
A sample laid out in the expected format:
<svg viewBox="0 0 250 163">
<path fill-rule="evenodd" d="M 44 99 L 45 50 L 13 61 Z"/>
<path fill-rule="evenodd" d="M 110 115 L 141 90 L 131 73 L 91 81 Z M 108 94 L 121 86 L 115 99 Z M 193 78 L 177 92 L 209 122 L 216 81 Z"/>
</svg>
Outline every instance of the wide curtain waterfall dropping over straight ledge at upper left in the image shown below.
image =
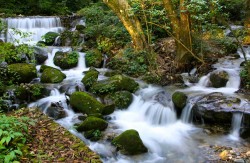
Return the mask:
<svg viewBox="0 0 250 163">
<path fill-rule="evenodd" d="M 6 18 L 3 21 L 7 24 L 8 31 L 4 37 L 6 42 L 35 44 L 42 40 L 42 36 L 47 32 L 60 33 L 64 30 L 59 17 L 25 17 L 25 18 Z M 15 32 L 30 33 L 29 37 L 22 38 Z"/>
</svg>

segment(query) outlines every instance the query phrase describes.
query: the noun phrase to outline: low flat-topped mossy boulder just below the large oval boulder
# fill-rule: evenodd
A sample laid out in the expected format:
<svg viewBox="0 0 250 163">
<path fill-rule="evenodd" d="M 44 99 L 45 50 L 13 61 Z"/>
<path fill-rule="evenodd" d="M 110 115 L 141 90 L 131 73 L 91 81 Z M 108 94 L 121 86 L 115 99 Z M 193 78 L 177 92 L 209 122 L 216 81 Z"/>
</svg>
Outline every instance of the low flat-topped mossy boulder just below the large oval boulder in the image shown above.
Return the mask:
<svg viewBox="0 0 250 163">
<path fill-rule="evenodd" d="M 76 128 L 77 131 L 90 131 L 90 130 L 100 130 L 103 131 L 108 127 L 108 123 L 97 117 L 87 117 L 81 124 Z"/>
</svg>

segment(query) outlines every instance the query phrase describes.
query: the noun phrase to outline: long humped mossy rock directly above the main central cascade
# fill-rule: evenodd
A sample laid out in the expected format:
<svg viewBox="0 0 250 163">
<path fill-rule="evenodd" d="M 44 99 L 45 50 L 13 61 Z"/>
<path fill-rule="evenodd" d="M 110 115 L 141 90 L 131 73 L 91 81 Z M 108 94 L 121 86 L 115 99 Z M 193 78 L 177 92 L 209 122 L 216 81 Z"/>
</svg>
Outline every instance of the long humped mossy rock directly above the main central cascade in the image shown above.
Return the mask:
<svg viewBox="0 0 250 163">
<path fill-rule="evenodd" d="M 107 80 L 96 82 L 90 89 L 91 92 L 97 95 L 105 95 L 117 91 L 135 92 L 139 88 L 139 84 L 133 79 L 123 76 L 115 75 Z"/>
</svg>

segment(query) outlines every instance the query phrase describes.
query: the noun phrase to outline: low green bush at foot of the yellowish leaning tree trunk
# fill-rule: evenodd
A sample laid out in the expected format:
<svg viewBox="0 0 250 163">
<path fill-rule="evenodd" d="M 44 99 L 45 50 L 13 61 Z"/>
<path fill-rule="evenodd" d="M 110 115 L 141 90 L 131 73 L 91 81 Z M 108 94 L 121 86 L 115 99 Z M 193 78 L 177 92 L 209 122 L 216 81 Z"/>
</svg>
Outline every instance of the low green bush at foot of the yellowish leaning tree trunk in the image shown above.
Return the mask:
<svg viewBox="0 0 250 163">
<path fill-rule="evenodd" d="M 114 57 L 107 64 L 108 67 L 120 70 L 121 72 L 138 77 L 148 71 L 149 61 L 148 53 L 146 51 L 134 51 L 127 48 L 123 51 L 122 57 Z"/>
</svg>

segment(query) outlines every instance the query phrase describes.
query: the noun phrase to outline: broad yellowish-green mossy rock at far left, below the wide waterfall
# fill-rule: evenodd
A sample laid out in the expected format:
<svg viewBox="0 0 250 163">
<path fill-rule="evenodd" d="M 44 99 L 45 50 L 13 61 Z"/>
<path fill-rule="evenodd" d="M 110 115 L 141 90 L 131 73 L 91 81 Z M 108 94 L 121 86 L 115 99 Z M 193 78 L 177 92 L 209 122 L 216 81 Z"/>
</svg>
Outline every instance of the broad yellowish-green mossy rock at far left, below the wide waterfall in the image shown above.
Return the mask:
<svg viewBox="0 0 250 163">
<path fill-rule="evenodd" d="M 8 66 L 8 71 L 15 76 L 15 81 L 18 83 L 29 83 L 37 77 L 36 67 L 28 63 L 11 64 Z"/>
</svg>

